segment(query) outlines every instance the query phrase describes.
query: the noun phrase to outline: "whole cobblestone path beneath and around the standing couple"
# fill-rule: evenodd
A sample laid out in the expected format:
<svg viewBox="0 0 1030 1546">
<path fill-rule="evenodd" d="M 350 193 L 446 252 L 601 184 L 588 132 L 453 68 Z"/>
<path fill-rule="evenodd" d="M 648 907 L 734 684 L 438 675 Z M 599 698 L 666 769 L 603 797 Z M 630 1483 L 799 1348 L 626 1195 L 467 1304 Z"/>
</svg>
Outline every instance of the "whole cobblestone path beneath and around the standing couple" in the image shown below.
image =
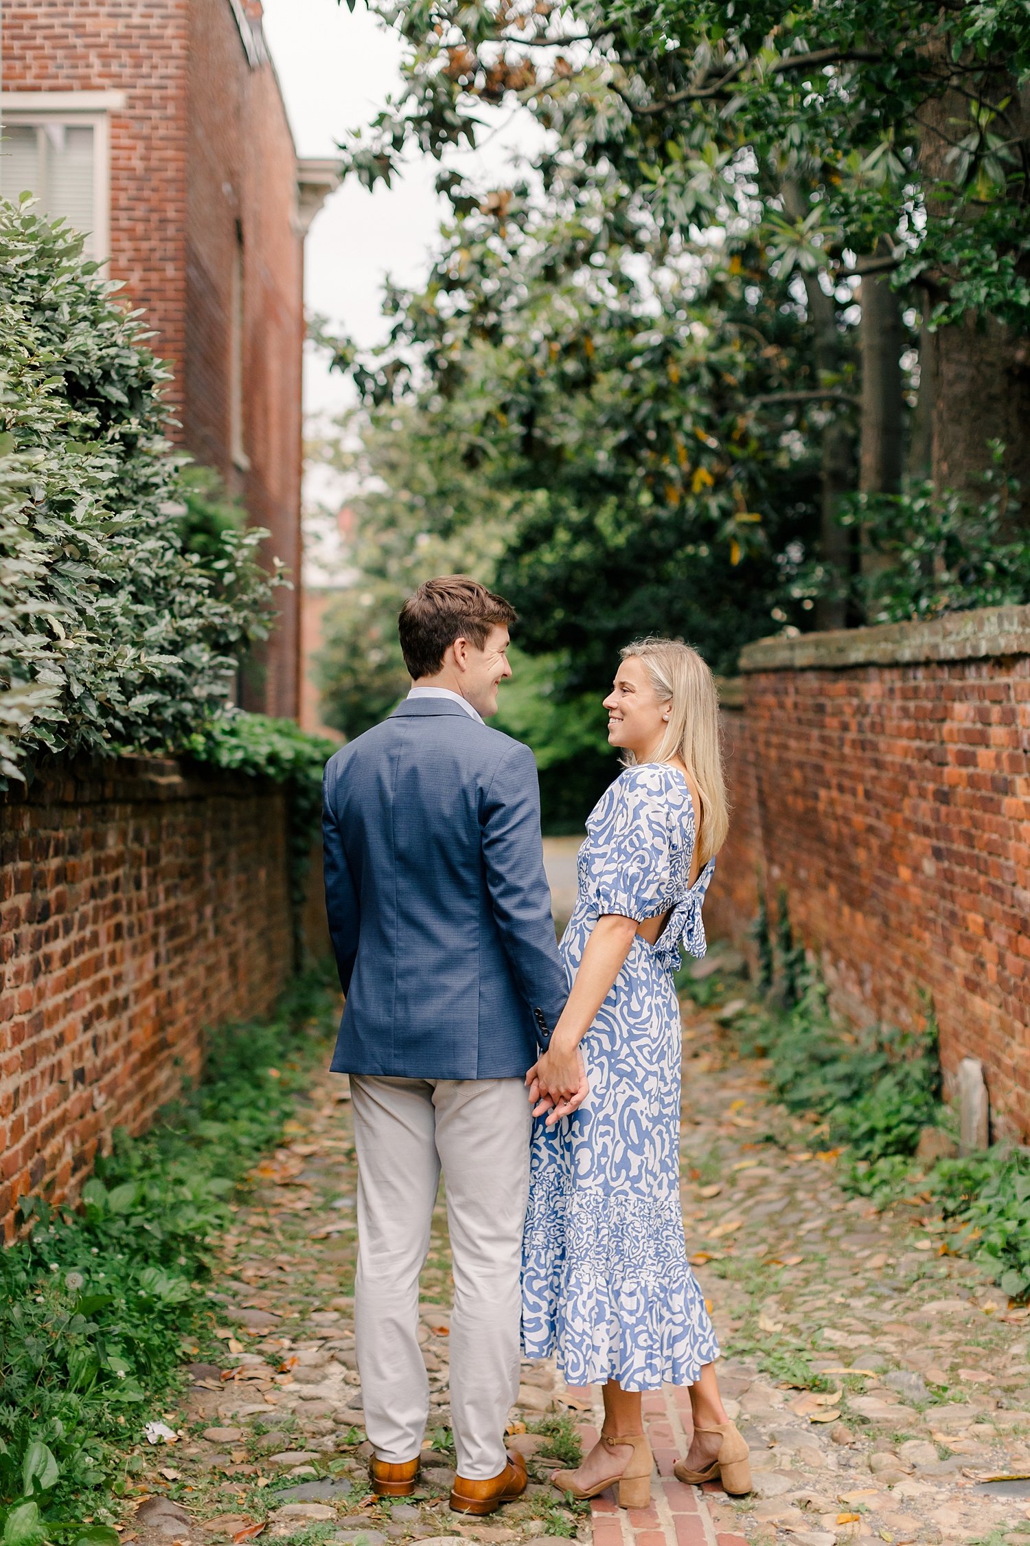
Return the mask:
<svg viewBox="0 0 1030 1546">
<path fill-rule="evenodd" d="M 737 991 L 737 989 L 732 989 Z M 724 1006 L 723 1019 L 734 1005 Z M 766 1104 L 761 1065 L 738 1062 L 715 1011 L 686 1014 L 684 1217 L 726 1350 L 721 1379 L 754 1447 L 757 1492 L 730 1503 L 683 1487 L 683 1390 L 645 1398 L 661 1481 L 649 1510 L 610 1498 L 570 1510 L 547 1483 L 570 1436 L 593 1441 L 595 1393 L 523 1365 L 511 1442 L 533 1483 L 517 1504 L 465 1521 L 446 1506 L 449 1266 L 442 1207 L 423 1275 L 422 1340 L 432 1391 L 425 1486 L 368 1495 L 352 1331 L 355 1167 L 346 1081 L 320 1074 L 284 1146 L 224 1241 L 215 1288 L 219 1356 L 195 1357 L 181 1433 L 127 1486 L 144 1495 L 124 1540 L 213 1546 L 244 1532 L 306 1546 L 531 1541 L 596 1546 L 835 1546 L 990 1540 L 1030 1546 L 1030 1497 L 987 1476 L 1030 1472 L 1024 1311 L 968 1263 L 940 1257 L 925 1203 L 877 1215 L 834 1181 L 834 1156 Z M 831 1388 L 812 1393 L 811 1371 Z M 811 1384 L 811 1379 L 808 1381 Z M 548 1453 L 550 1452 L 550 1453 Z M 557 1456 L 557 1458 L 554 1458 Z M 1002 1484 L 1004 1486 L 1004 1484 Z M 1027 1483 L 1008 1490 L 1030 1493 Z M 1025 1532 L 1025 1534 L 1024 1534 Z"/>
</svg>

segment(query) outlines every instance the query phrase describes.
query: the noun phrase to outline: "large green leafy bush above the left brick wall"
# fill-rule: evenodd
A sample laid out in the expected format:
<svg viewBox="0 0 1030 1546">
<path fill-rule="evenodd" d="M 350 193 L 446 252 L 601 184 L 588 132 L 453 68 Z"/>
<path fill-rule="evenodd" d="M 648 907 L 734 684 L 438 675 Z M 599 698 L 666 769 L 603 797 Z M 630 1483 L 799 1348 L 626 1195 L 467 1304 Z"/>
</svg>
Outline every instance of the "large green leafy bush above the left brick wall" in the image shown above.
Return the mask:
<svg viewBox="0 0 1030 1546">
<path fill-rule="evenodd" d="M 267 635 L 259 529 L 187 550 L 167 369 L 82 238 L 0 203 L 0 776 L 176 747 Z M 212 557 L 212 553 L 215 557 Z"/>
</svg>

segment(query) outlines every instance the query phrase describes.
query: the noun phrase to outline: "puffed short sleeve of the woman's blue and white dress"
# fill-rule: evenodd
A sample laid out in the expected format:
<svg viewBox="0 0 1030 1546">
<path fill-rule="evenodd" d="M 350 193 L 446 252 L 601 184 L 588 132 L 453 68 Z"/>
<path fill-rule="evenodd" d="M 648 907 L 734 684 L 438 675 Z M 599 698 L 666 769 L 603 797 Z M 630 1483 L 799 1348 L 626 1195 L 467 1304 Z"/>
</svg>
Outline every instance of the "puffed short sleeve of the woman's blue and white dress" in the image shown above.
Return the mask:
<svg viewBox="0 0 1030 1546">
<path fill-rule="evenodd" d="M 669 799 L 653 767 L 627 768 L 590 819 L 587 890 L 598 912 L 653 918 L 672 906 Z"/>
</svg>

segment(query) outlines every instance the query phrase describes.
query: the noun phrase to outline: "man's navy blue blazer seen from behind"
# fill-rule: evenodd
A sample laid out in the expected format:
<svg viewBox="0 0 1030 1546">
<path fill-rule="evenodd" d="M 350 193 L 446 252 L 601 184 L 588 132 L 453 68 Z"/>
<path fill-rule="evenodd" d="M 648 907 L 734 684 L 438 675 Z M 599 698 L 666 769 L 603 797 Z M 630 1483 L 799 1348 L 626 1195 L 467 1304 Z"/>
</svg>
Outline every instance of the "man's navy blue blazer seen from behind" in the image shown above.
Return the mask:
<svg viewBox="0 0 1030 1546">
<path fill-rule="evenodd" d="M 530 748 L 406 699 L 329 759 L 323 833 L 347 996 L 330 1067 L 523 1078 L 568 996 Z"/>
</svg>

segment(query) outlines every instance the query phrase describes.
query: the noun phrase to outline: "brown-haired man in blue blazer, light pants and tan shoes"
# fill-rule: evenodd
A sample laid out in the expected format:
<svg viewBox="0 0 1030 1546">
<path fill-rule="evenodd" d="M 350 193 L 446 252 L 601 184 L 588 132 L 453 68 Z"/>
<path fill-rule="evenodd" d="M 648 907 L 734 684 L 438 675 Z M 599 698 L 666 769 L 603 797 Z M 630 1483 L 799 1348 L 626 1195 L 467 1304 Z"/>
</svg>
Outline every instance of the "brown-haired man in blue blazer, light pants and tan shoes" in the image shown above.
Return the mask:
<svg viewBox="0 0 1030 1546">
<path fill-rule="evenodd" d="M 346 993 L 332 1068 L 351 1074 L 358 1153 L 355 1333 L 372 1487 L 415 1487 L 429 1390 L 418 1274 L 440 1167 L 454 1257 L 451 1507 L 525 1489 L 503 1447 L 519 1387 L 528 1192 L 523 1078 L 568 985 L 544 873 L 536 765 L 485 719 L 513 608 L 429 580 L 398 629 L 409 696 L 326 767 L 329 931 Z M 574 1110 L 585 1082 L 567 1102 Z"/>
</svg>

